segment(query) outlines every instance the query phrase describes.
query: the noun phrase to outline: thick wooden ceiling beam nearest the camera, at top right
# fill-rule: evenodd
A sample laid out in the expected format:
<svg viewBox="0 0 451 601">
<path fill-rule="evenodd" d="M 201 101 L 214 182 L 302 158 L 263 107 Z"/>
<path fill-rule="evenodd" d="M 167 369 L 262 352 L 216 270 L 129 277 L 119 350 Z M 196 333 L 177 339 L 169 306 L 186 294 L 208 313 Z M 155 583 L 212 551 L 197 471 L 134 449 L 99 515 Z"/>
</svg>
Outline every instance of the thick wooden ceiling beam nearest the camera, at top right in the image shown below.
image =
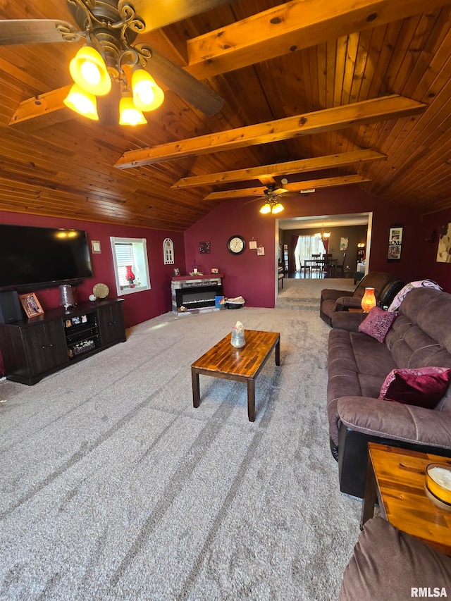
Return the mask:
<svg viewBox="0 0 451 601">
<path fill-rule="evenodd" d="M 188 40 L 186 69 L 210 78 L 446 4 L 451 0 L 292 0 Z"/>
</svg>

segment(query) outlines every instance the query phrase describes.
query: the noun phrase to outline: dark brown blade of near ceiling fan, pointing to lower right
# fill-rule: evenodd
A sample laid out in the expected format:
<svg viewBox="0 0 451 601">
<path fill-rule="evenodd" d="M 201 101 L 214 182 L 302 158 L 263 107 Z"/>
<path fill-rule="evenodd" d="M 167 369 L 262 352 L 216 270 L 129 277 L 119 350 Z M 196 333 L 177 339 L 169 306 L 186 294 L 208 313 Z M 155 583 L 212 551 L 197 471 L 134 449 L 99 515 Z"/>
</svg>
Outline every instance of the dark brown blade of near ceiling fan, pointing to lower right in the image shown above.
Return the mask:
<svg viewBox="0 0 451 601">
<path fill-rule="evenodd" d="M 140 44 L 137 44 L 137 47 L 139 46 Z M 224 101 L 221 96 L 158 50 L 152 48 L 152 57 L 147 61 L 147 70 L 157 81 L 172 89 L 175 94 L 205 115 L 216 115 L 223 108 Z"/>
</svg>

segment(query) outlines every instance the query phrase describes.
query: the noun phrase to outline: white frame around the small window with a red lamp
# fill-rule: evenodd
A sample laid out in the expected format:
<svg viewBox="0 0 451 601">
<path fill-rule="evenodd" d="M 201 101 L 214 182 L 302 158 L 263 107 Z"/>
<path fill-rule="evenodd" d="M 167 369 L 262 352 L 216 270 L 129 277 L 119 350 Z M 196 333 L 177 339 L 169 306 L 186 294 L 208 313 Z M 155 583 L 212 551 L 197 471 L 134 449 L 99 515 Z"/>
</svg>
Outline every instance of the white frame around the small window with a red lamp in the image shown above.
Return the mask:
<svg viewBox="0 0 451 601">
<path fill-rule="evenodd" d="M 116 292 L 118 297 L 132 295 L 142 290 L 150 290 L 149 261 L 147 259 L 147 240 L 145 238 L 122 238 L 111 236 L 111 254 L 113 255 L 114 277 L 116 278 Z M 132 268 L 135 273 L 135 283 L 121 284 L 120 268 L 116 254 L 116 244 L 132 245 Z"/>
</svg>

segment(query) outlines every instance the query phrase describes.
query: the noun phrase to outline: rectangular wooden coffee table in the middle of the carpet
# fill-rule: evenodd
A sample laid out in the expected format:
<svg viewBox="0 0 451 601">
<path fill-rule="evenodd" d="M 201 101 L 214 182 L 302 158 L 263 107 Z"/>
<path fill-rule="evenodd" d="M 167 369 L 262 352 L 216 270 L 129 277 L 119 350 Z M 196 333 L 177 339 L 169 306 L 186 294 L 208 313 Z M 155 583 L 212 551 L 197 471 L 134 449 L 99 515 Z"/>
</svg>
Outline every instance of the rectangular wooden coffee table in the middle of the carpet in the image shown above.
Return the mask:
<svg viewBox="0 0 451 601">
<path fill-rule="evenodd" d="M 191 366 L 192 404 L 199 407 L 199 374 L 225 380 L 247 382 L 247 416 L 255 420 L 255 380 L 273 349 L 276 365 L 280 365 L 280 334 L 245 330 L 246 344 L 235 349 L 230 344 L 230 334 L 199 357 Z"/>
</svg>

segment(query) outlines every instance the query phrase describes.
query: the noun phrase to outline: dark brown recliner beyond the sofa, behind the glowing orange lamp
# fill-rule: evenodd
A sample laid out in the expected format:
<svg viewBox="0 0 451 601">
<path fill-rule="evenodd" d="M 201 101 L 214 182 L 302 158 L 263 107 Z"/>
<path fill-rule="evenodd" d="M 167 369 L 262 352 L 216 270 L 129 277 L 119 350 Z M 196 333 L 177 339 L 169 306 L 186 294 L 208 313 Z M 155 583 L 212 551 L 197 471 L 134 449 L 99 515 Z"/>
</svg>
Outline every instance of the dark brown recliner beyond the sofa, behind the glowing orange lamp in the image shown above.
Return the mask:
<svg viewBox="0 0 451 601">
<path fill-rule="evenodd" d="M 379 305 L 388 306 L 402 287 L 404 287 L 404 282 L 399 280 L 393 273 L 370 271 L 370 273 L 360 280 L 354 292 L 324 288 L 321 291 L 319 308 L 321 319 L 330 326 L 333 316 L 338 311 L 359 309 L 366 287 L 374 288 L 374 295 Z"/>
</svg>

